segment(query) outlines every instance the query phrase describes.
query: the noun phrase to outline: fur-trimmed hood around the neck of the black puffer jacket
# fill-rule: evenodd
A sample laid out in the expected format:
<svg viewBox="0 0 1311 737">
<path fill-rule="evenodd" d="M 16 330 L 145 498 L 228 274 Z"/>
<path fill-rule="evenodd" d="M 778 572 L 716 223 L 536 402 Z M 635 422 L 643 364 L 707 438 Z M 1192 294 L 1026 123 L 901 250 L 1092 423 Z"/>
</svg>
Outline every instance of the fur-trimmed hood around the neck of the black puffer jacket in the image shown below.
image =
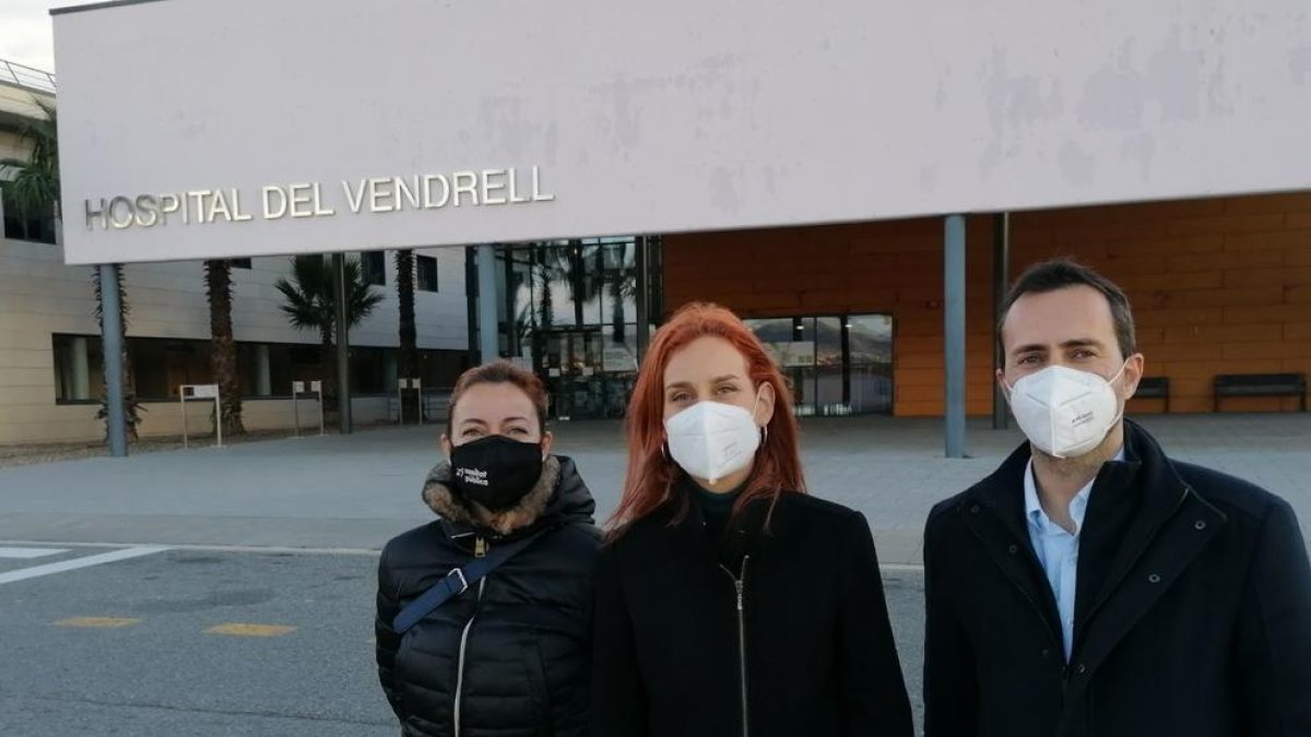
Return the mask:
<svg viewBox="0 0 1311 737">
<path fill-rule="evenodd" d="M 492 513 L 480 521 L 471 502 L 455 488 L 451 464 L 442 462 L 433 467 L 423 481 L 423 504 L 442 518 L 448 534 L 486 531 L 499 536 L 536 528 L 543 525 L 583 522 L 593 525 L 597 502 L 574 462 L 565 456 L 548 455 L 541 464 L 541 476 L 519 504 L 503 511 Z"/>
</svg>

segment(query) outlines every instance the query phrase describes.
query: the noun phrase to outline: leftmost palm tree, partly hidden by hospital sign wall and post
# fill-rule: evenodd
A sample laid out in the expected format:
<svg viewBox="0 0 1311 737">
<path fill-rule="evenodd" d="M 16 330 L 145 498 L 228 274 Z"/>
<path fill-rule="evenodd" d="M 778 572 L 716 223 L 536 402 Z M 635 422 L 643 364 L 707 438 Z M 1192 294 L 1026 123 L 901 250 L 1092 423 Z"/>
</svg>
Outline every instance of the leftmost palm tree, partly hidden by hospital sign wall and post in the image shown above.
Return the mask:
<svg viewBox="0 0 1311 737">
<path fill-rule="evenodd" d="M 7 199 L 18 210 L 24 218 L 43 219 L 52 214 L 60 219 L 59 212 L 59 139 L 58 139 L 58 110 L 52 101 L 33 97 L 31 101 L 42 111 L 42 118 L 28 122 L 20 135 L 20 142 L 29 147 L 26 159 L 0 159 L 0 186 L 4 188 Z M 118 324 L 123 340 L 123 417 L 127 422 L 127 435 L 136 439 L 136 428 L 140 425 L 140 412 L 143 408 L 136 401 L 135 380 L 132 378 L 132 365 L 127 354 L 127 287 L 123 282 L 123 268 L 114 265 L 118 275 Z M 92 268 L 92 289 L 96 292 L 96 324 L 102 325 L 105 313 L 104 292 L 100 283 L 100 269 Z M 104 340 L 104 338 L 102 338 Z M 108 363 L 108 357 L 104 363 Z M 101 374 L 101 382 L 105 382 Z M 100 412 L 97 420 L 104 420 L 105 437 L 109 437 L 109 392 L 101 392 Z"/>
</svg>

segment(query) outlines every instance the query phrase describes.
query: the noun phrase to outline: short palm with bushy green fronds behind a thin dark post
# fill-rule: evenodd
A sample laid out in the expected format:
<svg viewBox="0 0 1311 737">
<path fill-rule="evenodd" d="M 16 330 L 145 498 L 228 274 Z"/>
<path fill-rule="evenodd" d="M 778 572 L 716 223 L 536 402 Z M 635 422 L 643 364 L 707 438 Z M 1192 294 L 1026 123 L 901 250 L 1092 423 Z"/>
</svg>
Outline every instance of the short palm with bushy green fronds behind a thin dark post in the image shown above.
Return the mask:
<svg viewBox="0 0 1311 737">
<path fill-rule="evenodd" d="M 364 320 L 383 295 L 364 282 L 358 260 L 346 260 L 346 324 L 351 328 Z M 294 256 L 291 281 L 278 279 L 274 287 L 286 303 L 282 311 L 298 330 L 319 330 L 319 363 L 323 372 L 325 408 L 337 407 L 337 371 L 333 333 L 337 324 L 337 290 L 333 269 L 321 256 Z"/>
</svg>

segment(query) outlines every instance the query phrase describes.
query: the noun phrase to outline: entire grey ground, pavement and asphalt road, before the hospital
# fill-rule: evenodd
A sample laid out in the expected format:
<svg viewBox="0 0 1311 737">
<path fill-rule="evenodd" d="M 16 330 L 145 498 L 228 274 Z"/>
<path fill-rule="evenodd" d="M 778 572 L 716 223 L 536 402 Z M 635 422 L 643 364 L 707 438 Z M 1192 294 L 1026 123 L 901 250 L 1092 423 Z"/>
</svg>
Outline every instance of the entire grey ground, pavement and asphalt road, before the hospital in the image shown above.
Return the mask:
<svg viewBox="0 0 1311 737">
<path fill-rule="evenodd" d="M 1160 417 L 1176 458 L 1252 479 L 1311 521 L 1311 414 Z M 814 493 L 860 509 L 916 723 L 923 712 L 919 538 L 937 500 L 1017 442 L 971 425 L 944 459 L 936 421 L 804 422 Z M 600 517 L 621 426 L 568 422 Z M 376 685 L 376 549 L 431 519 L 418 484 L 435 426 L 0 469 L 0 734 L 396 734 Z"/>
</svg>

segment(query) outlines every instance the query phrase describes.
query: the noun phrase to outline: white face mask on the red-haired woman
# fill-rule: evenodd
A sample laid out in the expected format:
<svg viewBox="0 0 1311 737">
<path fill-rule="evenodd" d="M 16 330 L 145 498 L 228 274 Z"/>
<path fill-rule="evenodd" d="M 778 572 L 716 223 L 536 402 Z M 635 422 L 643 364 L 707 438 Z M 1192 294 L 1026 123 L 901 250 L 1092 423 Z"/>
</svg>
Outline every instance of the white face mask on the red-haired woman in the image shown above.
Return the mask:
<svg viewBox="0 0 1311 737">
<path fill-rule="evenodd" d="M 665 421 L 665 434 L 674 462 L 711 484 L 750 466 L 760 447 L 755 413 L 722 401 L 688 407 Z"/>
</svg>

